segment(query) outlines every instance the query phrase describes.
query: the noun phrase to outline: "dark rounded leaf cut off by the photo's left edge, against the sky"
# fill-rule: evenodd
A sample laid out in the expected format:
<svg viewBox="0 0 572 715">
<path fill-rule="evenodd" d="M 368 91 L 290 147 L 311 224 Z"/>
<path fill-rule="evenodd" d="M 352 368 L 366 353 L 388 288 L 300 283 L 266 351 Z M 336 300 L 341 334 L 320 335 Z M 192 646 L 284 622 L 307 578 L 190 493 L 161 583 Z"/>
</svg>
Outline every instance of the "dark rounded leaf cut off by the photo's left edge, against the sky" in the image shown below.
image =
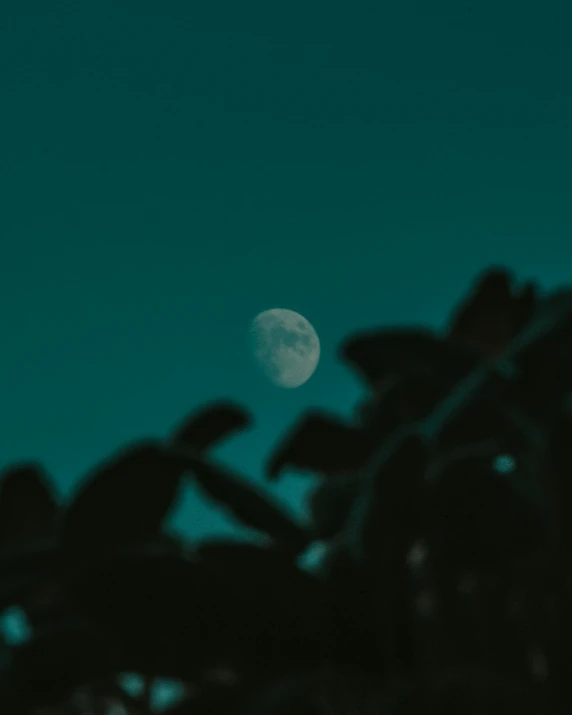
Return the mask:
<svg viewBox="0 0 572 715">
<path fill-rule="evenodd" d="M 41 466 L 16 464 L 0 473 L 0 544 L 48 536 L 57 513 L 56 499 Z"/>
</svg>

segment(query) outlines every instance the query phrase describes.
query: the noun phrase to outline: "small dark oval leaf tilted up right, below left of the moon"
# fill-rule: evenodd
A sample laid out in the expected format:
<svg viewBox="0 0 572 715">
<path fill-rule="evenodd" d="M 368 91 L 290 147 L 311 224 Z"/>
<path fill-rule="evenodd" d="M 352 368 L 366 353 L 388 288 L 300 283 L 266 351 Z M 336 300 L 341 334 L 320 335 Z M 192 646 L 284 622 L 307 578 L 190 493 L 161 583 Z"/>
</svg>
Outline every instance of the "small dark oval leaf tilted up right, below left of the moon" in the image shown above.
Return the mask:
<svg viewBox="0 0 572 715">
<path fill-rule="evenodd" d="M 171 442 L 201 451 L 249 424 L 249 415 L 238 405 L 213 403 L 186 419 L 173 433 Z"/>
</svg>

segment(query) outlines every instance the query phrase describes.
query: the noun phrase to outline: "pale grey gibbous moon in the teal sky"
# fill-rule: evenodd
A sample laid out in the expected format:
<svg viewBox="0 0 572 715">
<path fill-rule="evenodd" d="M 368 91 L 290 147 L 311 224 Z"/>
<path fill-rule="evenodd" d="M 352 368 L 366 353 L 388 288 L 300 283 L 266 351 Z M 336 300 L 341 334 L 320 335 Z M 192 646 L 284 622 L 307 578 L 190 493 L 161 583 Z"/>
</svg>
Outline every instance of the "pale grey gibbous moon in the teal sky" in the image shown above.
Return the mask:
<svg viewBox="0 0 572 715">
<path fill-rule="evenodd" d="M 272 308 L 251 323 L 254 357 L 275 385 L 300 387 L 320 360 L 320 340 L 311 323 L 293 310 Z"/>
</svg>

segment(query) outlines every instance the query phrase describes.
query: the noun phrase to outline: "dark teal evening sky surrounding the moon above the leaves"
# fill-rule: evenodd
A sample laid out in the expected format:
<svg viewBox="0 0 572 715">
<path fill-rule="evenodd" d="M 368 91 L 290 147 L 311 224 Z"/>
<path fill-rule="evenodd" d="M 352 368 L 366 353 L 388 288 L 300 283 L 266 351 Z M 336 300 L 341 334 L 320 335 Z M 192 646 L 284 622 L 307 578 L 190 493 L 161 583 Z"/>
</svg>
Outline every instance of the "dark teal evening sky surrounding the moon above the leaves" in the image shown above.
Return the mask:
<svg viewBox="0 0 572 715">
<path fill-rule="evenodd" d="M 489 263 L 569 280 L 571 32 L 564 0 L 5 0 L 0 463 L 65 494 L 224 397 L 258 479 L 305 408 L 350 413 L 349 332 L 441 325 Z M 272 307 L 322 341 L 296 390 L 248 352 Z"/>
</svg>

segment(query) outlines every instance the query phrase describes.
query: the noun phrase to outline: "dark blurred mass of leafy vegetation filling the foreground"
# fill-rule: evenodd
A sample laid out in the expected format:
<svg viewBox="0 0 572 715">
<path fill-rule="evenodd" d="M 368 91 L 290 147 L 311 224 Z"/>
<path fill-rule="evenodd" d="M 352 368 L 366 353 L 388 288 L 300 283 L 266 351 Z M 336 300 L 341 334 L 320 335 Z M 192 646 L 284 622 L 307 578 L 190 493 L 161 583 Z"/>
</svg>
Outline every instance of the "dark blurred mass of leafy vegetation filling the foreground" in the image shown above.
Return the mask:
<svg viewBox="0 0 572 715">
<path fill-rule="evenodd" d="M 268 462 L 321 478 L 310 526 L 209 458 L 248 426 L 229 403 L 65 506 L 40 465 L 4 470 L 0 607 L 32 633 L 0 646 L 2 715 L 144 715 L 157 678 L 185 686 L 170 715 L 572 712 L 572 290 L 490 270 L 442 335 L 341 355 L 369 388 L 355 421 L 307 414 Z M 185 479 L 265 539 L 167 536 Z"/>
</svg>

